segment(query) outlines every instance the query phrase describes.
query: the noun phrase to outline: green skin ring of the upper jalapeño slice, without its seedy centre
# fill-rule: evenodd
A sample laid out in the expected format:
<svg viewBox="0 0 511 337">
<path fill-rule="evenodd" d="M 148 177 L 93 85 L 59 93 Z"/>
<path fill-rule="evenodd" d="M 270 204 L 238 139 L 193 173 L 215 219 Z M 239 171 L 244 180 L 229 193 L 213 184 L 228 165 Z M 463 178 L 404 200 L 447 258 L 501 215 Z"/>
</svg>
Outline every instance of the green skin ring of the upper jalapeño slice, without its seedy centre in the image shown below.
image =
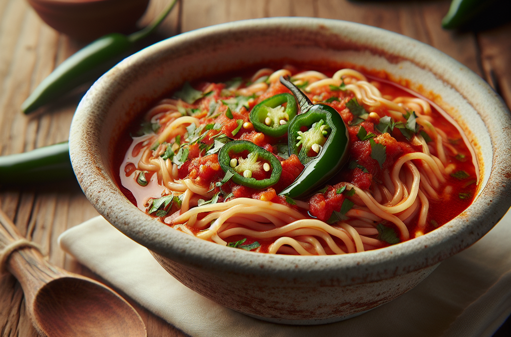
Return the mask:
<svg viewBox="0 0 511 337">
<path fill-rule="evenodd" d="M 270 109 L 276 108 L 279 105 L 287 103 L 284 114 L 288 115 L 287 123 L 281 125 L 279 121 L 272 120 L 270 125 L 265 124 L 265 120 L 269 117 Z M 271 114 L 271 112 L 270 112 Z M 278 94 L 265 99 L 258 105 L 254 106 L 250 111 L 249 119 L 254 129 L 263 132 L 271 137 L 282 137 L 288 131 L 289 121 L 296 116 L 296 101 L 291 94 Z M 279 119 L 280 120 L 280 119 Z"/>
</svg>

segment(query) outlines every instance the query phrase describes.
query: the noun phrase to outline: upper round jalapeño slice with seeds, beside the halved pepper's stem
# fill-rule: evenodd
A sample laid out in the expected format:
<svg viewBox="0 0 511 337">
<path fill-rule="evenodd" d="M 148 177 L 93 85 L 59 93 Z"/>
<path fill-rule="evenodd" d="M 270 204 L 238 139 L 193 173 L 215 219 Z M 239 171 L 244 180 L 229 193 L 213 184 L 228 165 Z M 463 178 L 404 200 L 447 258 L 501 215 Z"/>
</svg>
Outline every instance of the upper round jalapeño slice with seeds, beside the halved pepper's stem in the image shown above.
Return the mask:
<svg viewBox="0 0 511 337">
<path fill-rule="evenodd" d="M 287 103 L 286 108 L 282 104 Z M 281 137 L 288 131 L 288 123 L 296 116 L 296 101 L 291 94 L 278 94 L 265 99 L 250 111 L 254 129 L 271 137 Z"/>
</svg>

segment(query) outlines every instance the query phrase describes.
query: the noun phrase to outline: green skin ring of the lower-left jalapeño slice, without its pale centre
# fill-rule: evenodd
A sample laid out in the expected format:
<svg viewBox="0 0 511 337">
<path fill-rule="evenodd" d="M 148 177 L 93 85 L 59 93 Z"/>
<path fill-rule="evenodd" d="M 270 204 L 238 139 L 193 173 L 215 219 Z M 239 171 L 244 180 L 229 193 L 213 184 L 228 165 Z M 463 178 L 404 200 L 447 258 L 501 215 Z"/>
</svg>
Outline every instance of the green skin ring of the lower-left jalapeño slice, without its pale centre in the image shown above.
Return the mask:
<svg viewBox="0 0 511 337">
<path fill-rule="evenodd" d="M 260 159 L 268 161 L 272 169 L 270 177 L 262 180 L 251 177 L 247 178 L 236 172 L 234 168 L 230 167 L 230 153 L 240 153 L 243 151 L 248 151 L 249 153 L 257 153 Z M 231 179 L 233 179 L 235 183 L 258 190 L 262 190 L 276 184 L 282 173 L 281 162 L 276 159 L 273 153 L 268 152 L 262 147 L 257 146 L 249 141 L 238 140 L 226 143 L 224 146 L 222 146 L 220 152 L 218 153 L 218 162 L 224 172 L 230 171 L 231 173 L 234 173 Z"/>
</svg>

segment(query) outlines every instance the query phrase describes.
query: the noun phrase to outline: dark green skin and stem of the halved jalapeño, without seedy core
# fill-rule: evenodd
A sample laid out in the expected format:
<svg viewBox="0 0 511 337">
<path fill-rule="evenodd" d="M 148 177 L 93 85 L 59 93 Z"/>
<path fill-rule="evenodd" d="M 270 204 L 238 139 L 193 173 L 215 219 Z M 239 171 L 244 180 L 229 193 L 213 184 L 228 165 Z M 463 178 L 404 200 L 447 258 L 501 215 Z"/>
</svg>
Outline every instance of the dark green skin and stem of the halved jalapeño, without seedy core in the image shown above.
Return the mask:
<svg viewBox="0 0 511 337">
<path fill-rule="evenodd" d="M 326 183 L 344 166 L 349 156 L 350 137 L 346 124 L 334 108 L 325 104 L 313 105 L 294 84 L 283 77 L 281 77 L 281 82 L 295 95 L 300 105 L 301 114 L 289 123 L 289 154 L 297 154 L 302 164 L 305 165 L 305 169 L 280 194 L 291 198 L 305 197 Z M 314 157 L 308 157 L 307 153 L 298 152 L 296 143 L 300 128 L 302 126 L 311 127 L 312 124 L 321 120 L 328 125 L 329 129 L 327 140 L 319 153 Z"/>
</svg>

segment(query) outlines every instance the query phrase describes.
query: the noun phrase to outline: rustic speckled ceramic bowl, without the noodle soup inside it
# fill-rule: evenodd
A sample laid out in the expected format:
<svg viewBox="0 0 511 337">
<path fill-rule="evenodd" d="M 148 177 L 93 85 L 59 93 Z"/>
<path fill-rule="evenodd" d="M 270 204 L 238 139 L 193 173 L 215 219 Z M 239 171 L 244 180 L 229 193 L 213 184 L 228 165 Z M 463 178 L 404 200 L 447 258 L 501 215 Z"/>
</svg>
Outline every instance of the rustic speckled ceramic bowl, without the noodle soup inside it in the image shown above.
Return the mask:
<svg viewBox="0 0 511 337">
<path fill-rule="evenodd" d="M 126 126 L 184 81 L 274 60 L 351 62 L 433 98 L 465 130 L 479 162 L 473 204 L 444 226 L 388 248 L 337 256 L 229 249 L 176 231 L 133 206 L 114 177 Z M 125 59 L 85 95 L 69 137 L 92 205 L 146 246 L 184 285 L 271 322 L 319 324 L 356 316 L 402 295 L 438 263 L 481 238 L 511 204 L 511 121 L 499 97 L 451 57 L 408 37 L 345 21 L 246 20 L 180 34 Z"/>
</svg>

